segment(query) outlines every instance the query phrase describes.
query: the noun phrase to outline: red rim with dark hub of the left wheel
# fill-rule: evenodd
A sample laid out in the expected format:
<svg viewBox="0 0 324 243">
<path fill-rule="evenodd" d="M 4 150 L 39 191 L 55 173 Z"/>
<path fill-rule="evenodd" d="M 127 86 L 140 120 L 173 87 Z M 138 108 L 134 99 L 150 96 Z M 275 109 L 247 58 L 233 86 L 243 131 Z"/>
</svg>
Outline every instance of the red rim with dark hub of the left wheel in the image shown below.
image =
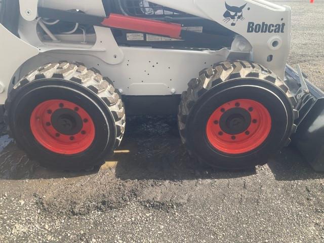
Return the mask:
<svg viewBox="0 0 324 243">
<path fill-rule="evenodd" d="M 33 110 L 30 129 L 35 139 L 59 154 L 77 154 L 87 150 L 95 138 L 90 115 L 66 100 L 48 100 Z"/>
</svg>

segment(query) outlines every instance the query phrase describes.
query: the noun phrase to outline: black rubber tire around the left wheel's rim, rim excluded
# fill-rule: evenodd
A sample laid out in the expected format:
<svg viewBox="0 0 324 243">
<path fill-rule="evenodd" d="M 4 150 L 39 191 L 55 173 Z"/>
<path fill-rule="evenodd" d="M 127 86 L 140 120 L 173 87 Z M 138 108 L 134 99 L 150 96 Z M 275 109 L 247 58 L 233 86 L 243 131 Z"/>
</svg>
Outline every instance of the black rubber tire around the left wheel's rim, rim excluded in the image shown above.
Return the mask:
<svg viewBox="0 0 324 243">
<path fill-rule="evenodd" d="M 43 101 L 63 99 L 83 107 L 95 125 L 95 139 L 82 153 L 54 153 L 34 138 L 30 129 L 33 109 Z M 126 116 L 118 91 L 107 77 L 83 64 L 49 63 L 24 76 L 5 104 L 9 135 L 27 155 L 50 169 L 80 171 L 100 166 L 123 139 Z"/>
</svg>

